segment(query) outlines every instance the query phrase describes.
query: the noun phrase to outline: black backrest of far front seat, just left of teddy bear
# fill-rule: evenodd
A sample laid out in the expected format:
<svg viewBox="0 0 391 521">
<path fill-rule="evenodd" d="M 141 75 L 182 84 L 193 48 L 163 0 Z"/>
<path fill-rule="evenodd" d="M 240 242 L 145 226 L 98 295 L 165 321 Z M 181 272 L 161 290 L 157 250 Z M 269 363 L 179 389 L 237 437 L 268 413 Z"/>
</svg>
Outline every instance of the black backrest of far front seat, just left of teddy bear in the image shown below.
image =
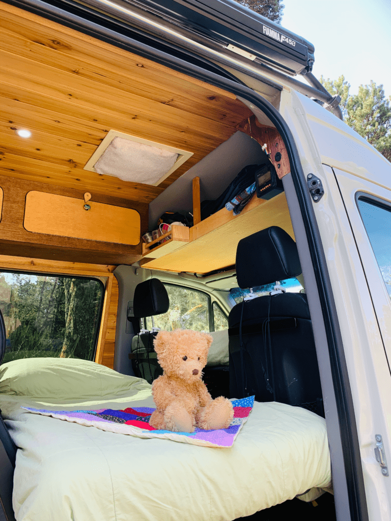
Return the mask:
<svg viewBox="0 0 391 521">
<path fill-rule="evenodd" d="M 136 334 L 132 339 L 129 354 L 135 375 L 144 378 L 148 383 L 163 375 L 163 369 L 157 362 L 157 355 L 153 349 L 153 339 L 156 334 L 157 331 Z"/>
</svg>

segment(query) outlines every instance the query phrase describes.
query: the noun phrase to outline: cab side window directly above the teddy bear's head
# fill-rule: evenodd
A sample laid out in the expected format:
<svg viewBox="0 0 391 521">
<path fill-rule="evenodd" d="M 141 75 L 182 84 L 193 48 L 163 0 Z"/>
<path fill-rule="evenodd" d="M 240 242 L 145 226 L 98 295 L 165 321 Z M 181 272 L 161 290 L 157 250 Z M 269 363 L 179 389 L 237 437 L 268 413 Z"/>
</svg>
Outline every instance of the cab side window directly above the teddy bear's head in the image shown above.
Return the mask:
<svg viewBox="0 0 391 521">
<path fill-rule="evenodd" d="M 205 293 L 164 284 L 170 307 L 164 315 L 153 317 L 155 327 L 165 331 L 174 329 L 192 329 L 209 332 L 210 329 L 210 298 Z M 145 319 L 146 329 L 152 328 L 151 317 Z"/>
</svg>

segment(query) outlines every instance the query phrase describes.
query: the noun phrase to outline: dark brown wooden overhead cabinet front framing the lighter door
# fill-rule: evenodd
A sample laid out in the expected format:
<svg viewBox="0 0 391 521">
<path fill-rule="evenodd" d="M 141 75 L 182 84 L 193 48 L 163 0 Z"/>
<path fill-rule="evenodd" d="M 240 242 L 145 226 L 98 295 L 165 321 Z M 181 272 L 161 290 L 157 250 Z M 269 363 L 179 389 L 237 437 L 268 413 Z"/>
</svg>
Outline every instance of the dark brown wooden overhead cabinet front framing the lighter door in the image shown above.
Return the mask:
<svg viewBox="0 0 391 521">
<path fill-rule="evenodd" d="M 56 258 L 62 261 L 75 261 L 102 264 L 132 264 L 141 258 L 141 242 L 136 246 L 100 242 L 68 237 L 56 237 L 41 233 L 28 232 L 23 227 L 26 194 L 31 190 L 46 193 L 56 193 L 83 200 L 84 191 L 68 188 L 51 187 L 43 183 L 33 183 L 0 176 L 0 184 L 4 190 L 3 219 L 0 222 L 0 242 L 3 253 L 26 256 L 31 254 L 30 249 L 42 253 L 43 258 Z M 132 207 L 141 217 L 142 229 L 148 228 L 148 206 L 136 201 L 119 199 L 118 197 L 95 194 L 95 202 L 113 204 L 125 208 Z M 55 256 L 53 257 L 53 252 Z"/>
</svg>

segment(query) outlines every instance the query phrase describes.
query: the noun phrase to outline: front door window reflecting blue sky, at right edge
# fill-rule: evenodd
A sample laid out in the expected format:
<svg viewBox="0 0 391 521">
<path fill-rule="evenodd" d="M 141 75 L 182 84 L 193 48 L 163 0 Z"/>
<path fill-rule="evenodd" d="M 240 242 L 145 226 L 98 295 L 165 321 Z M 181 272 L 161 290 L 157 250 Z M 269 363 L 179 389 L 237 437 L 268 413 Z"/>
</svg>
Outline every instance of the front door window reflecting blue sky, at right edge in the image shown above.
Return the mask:
<svg viewBox="0 0 391 521">
<path fill-rule="evenodd" d="M 391 207 L 366 197 L 359 197 L 357 204 L 391 299 Z"/>
</svg>

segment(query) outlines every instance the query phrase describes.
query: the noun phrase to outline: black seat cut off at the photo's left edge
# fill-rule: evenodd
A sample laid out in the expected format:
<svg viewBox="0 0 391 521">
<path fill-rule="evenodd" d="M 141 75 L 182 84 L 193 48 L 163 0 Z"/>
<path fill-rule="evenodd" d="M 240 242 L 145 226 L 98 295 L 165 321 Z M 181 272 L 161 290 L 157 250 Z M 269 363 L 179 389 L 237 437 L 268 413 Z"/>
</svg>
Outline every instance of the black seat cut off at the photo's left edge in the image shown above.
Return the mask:
<svg viewBox="0 0 391 521">
<path fill-rule="evenodd" d="M 0 365 L 6 346 L 6 332 L 3 314 L 0 311 Z M 12 507 L 16 445 L 9 436 L 0 411 L 0 520 L 15 521 Z"/>
</svg>

